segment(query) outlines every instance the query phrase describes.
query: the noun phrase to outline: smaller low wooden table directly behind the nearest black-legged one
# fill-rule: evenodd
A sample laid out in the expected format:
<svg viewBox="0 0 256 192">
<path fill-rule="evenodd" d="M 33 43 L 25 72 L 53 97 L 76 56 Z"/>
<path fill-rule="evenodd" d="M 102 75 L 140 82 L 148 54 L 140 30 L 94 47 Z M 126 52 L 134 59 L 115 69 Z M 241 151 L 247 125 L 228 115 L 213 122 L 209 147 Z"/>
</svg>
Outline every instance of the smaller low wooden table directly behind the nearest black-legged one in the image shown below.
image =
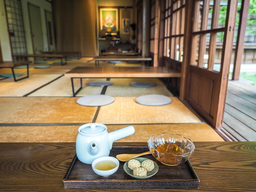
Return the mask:
<svg viewBox="0 0 256 192">
<path fill-rule="evenodd" d="M 95 61 L 95 66 L 99 66 L 100 61 L 146 61 L 147 65 L 152 60 L 151 57 L 142 57 L 142 56 L 97 56 L 92 60 Z"/>
</svg>

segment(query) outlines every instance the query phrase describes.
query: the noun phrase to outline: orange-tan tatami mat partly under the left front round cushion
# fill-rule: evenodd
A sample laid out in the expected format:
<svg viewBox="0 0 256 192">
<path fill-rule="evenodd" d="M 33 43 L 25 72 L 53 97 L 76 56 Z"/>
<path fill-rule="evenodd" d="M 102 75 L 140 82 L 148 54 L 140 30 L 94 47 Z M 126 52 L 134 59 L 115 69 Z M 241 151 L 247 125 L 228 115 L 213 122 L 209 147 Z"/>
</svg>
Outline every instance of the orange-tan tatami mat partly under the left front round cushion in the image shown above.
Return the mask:
<svg viewBox="0 0 256 192">
<path fill-rule="evenodd" d="M 74 97 L 0 97 L 0 123 L 90 123 L 97 107 Z"/>
</svg>

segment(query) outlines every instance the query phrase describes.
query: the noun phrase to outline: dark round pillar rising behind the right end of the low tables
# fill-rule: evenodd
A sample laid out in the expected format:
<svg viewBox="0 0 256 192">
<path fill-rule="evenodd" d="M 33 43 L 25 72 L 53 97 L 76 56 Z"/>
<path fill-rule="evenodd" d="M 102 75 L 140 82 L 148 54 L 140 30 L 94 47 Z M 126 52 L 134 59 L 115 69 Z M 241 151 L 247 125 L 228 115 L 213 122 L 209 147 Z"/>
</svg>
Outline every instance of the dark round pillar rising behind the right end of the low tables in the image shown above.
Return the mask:
<svg viewBox="0 0 256 192">
<path fill-rule="evenodd" d="M 150 56 L 150 1 L 142 1 L 142 53 L 143 57 Z M 144 65 L 144 63 L 143 63 Z"/>
</svg>

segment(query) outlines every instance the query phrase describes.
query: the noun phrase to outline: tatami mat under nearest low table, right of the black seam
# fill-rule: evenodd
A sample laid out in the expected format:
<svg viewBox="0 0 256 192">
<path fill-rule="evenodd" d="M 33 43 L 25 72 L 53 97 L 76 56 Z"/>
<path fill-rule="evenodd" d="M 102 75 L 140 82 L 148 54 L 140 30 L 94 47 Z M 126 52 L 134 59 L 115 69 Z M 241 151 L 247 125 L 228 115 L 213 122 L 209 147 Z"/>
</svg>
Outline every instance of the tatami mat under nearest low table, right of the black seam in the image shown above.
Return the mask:
<svg viewBox="0 0 256 192">
<path fill-rule="evenodd" d="M 106 95 L 112 97 L 137 97 L 148 94 L 159 94 L 164 96 L 173 96 L 171 92 L 165 87 L 165 85 L 157 78 L 111 78 L 113 85 L 108 86 Z M 130 83 L 133 81 L 149 81 L 154 82 L 157 85 L 154 87 L 132 87 Z"/>
</svg>

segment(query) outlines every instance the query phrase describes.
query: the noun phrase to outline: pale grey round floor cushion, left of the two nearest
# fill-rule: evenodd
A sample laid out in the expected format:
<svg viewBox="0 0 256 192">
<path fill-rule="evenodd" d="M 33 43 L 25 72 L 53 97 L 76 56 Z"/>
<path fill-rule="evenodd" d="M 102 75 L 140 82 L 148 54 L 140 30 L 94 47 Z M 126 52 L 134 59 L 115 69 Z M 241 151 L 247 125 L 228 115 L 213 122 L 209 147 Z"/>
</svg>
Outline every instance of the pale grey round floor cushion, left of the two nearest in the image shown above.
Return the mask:
<svg viewBox="0 0 256 192">
<path fill-rule="evenodd" d="M 87 95 L 80 97 L 76 103 L 83 106 L 103 106 L 114 102 L 114 97 L 108 95 Z"/>
</svg>

